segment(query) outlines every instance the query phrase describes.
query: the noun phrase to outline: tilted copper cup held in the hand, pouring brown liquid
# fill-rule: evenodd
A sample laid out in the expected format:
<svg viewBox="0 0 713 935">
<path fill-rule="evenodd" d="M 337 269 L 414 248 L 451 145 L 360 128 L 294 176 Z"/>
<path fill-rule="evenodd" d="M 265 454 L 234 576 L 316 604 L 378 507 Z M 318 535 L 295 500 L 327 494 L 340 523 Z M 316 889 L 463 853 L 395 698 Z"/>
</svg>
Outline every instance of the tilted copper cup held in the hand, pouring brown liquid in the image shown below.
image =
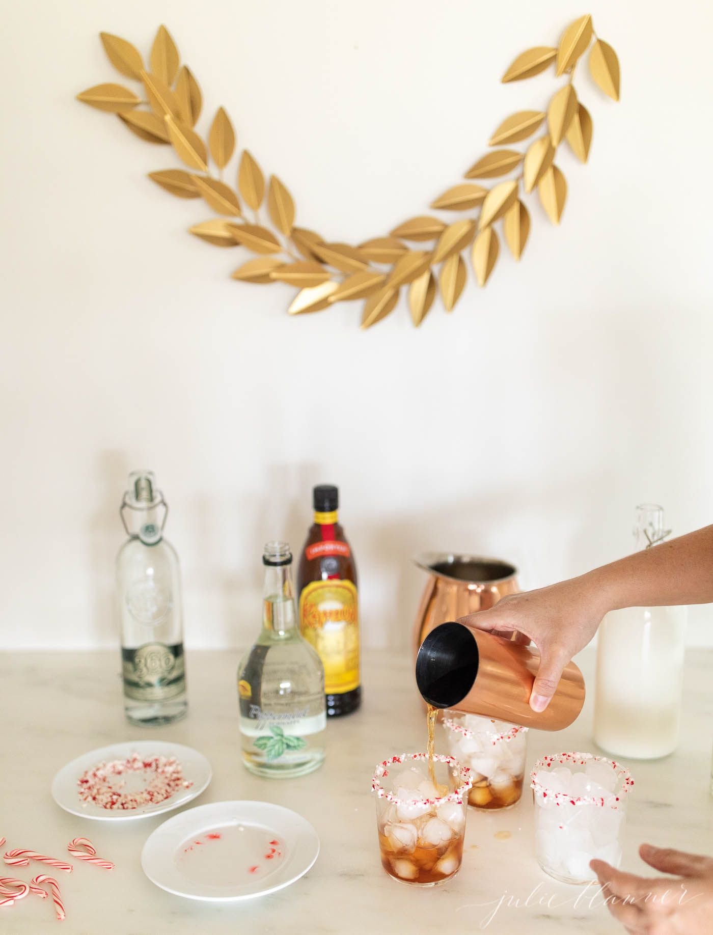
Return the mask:
<svg viewBox="0 0 713 935">
<path fill-rule="evenodd" d="M 561 730 L 582 710 L 584 679 L 574 662 L 568 663 L 548 707 L 534 712 L 529 699 L 539 659 L 529 646 L 451 622 L 436 626 L 421 643 L 416 683 L 435 708 Z"/>
</svg>

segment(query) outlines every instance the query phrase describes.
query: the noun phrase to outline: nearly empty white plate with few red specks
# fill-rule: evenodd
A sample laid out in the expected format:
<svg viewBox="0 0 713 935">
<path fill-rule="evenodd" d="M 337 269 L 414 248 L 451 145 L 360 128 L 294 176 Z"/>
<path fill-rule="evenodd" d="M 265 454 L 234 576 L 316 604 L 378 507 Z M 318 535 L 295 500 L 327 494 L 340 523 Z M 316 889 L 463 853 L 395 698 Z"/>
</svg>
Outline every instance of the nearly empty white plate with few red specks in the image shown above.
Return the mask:
<svg viewBox="0 0 713 935">
<path fill-rule="evenodd" d="M 274 893 L 307 873 L 320 839 L 307 819 L 270 802 L 213 802 L 157 827 L 141 866 L 188 899 L 237 901 Z"/>
</svg>

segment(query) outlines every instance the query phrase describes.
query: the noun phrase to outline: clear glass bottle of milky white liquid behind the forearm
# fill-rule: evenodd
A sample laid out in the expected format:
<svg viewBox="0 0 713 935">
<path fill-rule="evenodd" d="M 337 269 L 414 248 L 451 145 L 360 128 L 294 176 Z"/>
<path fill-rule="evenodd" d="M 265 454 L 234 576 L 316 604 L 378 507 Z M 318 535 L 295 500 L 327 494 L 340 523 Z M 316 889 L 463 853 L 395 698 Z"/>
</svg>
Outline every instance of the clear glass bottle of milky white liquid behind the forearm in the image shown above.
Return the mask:
<svg viewBox="0 0 713 935">
<path fill-rule="evenodd" d="M 636 508 L 635 551 L 670 530 L 663 508 Z M 687 608 L 627 607 L 606 614 L 597 641 L 594 742 L 607 753 L 656 759 L 677 747 Z"/>
</svg>

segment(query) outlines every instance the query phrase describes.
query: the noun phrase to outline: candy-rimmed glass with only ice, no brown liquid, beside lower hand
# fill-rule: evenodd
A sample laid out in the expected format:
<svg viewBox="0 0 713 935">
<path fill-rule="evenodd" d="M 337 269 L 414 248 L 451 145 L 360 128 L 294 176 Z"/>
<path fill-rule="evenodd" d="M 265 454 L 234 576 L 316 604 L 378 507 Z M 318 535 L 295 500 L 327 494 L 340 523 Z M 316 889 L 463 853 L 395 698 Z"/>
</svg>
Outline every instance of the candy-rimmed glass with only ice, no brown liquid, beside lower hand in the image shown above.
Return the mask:
<svg viewBox="0 0 713 935">
<path fill-rule="evenodd" d="M 562 883 L 595 880 L 590 860 L 621 861 L 620 834 L 629 770 L 606 756 L 543 756 L 530 774 L 535 798 L 535 853 L 540 867 Z"/>
</svg>

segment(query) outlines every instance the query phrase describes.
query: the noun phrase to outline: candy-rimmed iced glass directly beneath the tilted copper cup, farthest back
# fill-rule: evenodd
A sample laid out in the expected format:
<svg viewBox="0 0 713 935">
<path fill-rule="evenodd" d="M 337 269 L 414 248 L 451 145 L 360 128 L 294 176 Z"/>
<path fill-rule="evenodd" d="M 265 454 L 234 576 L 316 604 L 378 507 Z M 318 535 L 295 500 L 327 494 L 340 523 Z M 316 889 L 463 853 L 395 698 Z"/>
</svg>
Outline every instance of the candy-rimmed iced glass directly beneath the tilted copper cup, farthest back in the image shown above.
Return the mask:
<svg viewBox="0 0 713 935">
<path fill-rule="evenodd" d="M 450 754 L 470 767 L 468 804 L 508 809 L 520 801 L 527 753 L 527 727 L 478 714 L 443 719 Z"/>
</svg>

